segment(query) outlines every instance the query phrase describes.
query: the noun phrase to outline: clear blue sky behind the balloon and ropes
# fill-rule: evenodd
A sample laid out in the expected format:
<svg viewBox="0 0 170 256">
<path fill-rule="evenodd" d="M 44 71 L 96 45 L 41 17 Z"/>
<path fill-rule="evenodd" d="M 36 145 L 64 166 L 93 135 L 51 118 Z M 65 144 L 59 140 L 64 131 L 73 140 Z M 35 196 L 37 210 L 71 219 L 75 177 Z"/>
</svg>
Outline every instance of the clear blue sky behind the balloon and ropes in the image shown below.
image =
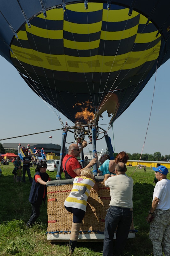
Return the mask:
<svg viewBox="0 0 170 256">
<path fill-rule="evenodd" d="M 161 152 L 162 155 L 170 154 L 169 135 L 169 79 L 170 60 L 158 68 L 156 86 L 153 100 L 150 124 L 143 149 L 143 153 L 153 154 Z M 20 77 L 17 70 L 3 57 L 0 56 L 0 110 L 1 110 L 1 134 L 0 139 L 25 135 L 35 132 L 43 132 L 62 128 L 58 116 L 38 97 Z M 155 74 L 152 76 L 143 91 L 129 106 L 129 108 L 114 122 L 111 137 L 115 151 L 128 153 L 141 153 L 149 122 L 151 103 L 155 84 Z M 60 117 L 65 124 L 73 124 L 62 114 Z M 107 130 L 109 118 L 104 114 L 99 122 L 102 128 Z M 27 137 L 10 140 L 0 140 L 1 143 L 52 143 L 61 144 L 62 130 L 47 132 Z M 102 136 L 101 136 L 102 137 Z M 67 135 L 67 142 L 74 141 L 72 133 Z M 69 144 L 66 144 L 67 148 Z M 88 145 L 84 152 L 92 150 Z M 105 140 L 97 141 L 97 151 L 106 149 Z"/>
</svg>

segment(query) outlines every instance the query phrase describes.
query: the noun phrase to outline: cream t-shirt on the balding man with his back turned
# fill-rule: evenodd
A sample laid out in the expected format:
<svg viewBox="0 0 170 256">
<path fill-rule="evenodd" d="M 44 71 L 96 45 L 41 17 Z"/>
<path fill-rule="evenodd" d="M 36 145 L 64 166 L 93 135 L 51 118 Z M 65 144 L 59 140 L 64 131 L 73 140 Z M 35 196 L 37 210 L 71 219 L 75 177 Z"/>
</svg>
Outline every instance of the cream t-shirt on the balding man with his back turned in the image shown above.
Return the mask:
<svg viewBox="0 0 170 256">
<path fill-rule="evenodd" d="M 133 180 L 124 174 L 109 177 L 105 186 L 110 188 L 111 201 L 109 205 L 122 208 L 133 208 Z"/>
</svg>

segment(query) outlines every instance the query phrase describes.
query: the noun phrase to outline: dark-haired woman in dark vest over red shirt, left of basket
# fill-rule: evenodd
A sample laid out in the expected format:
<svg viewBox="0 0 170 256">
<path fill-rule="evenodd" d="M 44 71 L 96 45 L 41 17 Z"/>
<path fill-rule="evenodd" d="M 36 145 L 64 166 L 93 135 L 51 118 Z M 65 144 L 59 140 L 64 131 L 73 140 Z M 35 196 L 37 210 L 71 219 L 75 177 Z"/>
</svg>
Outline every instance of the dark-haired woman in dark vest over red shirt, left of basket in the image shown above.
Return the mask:
<svg viewBox="0 0 170 256">
<path fill-rule="evenodd" d="M 29 202 L 32 206 L 31 217 L 26 226 L 29 227 L 35 223 L 35 220 L 40 215 L 40 205 L 44 202 L 47 195 L 46 183 L 50 181 L 49 175 L 46 173 L 47 164 L 40 161 L 35 169 L 35 175 L 29 194 Z"/>
</svg>

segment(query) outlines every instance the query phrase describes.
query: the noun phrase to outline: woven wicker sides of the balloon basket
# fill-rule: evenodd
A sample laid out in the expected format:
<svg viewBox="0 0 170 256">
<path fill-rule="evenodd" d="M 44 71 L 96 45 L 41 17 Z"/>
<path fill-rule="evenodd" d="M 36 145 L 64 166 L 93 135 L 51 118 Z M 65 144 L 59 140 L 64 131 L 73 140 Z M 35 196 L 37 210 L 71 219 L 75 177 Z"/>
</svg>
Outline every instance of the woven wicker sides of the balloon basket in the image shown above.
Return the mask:
<svg viewBox="0 0 170 256">
<path fill-rule="evenodd" d="M 110 203 L 110 189 L 104 186 L 103 181 L 97 182 L 99 191 L 91 188 L 87 201 L 87 210 L 81 223 L 82 234 L 104 233 L 104 219 Z M 61 186 L 48 186 L 48 228 L 47 232 L 60 232 L 65 234 L 71 231 L 73 214 L 64 207 L 64 201 L 72 190 L 73 184 Z M 130 230 L 134 230 L 132 221 Z M 63 231 L 63 232 L 62 232 Z"/>
</svg>

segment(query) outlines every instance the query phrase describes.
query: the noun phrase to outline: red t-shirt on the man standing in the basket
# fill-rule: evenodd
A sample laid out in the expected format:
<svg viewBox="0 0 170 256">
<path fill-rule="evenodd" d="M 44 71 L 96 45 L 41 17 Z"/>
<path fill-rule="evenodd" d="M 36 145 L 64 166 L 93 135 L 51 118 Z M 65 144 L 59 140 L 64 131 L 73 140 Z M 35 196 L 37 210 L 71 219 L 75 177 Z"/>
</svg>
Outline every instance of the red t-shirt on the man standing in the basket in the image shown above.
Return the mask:
<svg viewBox="0 0 170 256">
<path fill-rule="evenodd" d="M 67 159 L 71 157 L 68 161 Z M 67 163 L 66 163 L 67 161 Z M 65 170 L 65 163 L 66 163 L 66 171 L 68 172 L 68 174 L 72 177 L 75 178 L 77 177 L 77 174 L 73 171 L 75 169 L 82 169 L 81 164 L 79 163 L 79 161 L 77 160 L 76 157 L 71 156 L 69 154 L 67 154 L 64 158 L 63 158 L 63 170 Z"/>
</svg>

